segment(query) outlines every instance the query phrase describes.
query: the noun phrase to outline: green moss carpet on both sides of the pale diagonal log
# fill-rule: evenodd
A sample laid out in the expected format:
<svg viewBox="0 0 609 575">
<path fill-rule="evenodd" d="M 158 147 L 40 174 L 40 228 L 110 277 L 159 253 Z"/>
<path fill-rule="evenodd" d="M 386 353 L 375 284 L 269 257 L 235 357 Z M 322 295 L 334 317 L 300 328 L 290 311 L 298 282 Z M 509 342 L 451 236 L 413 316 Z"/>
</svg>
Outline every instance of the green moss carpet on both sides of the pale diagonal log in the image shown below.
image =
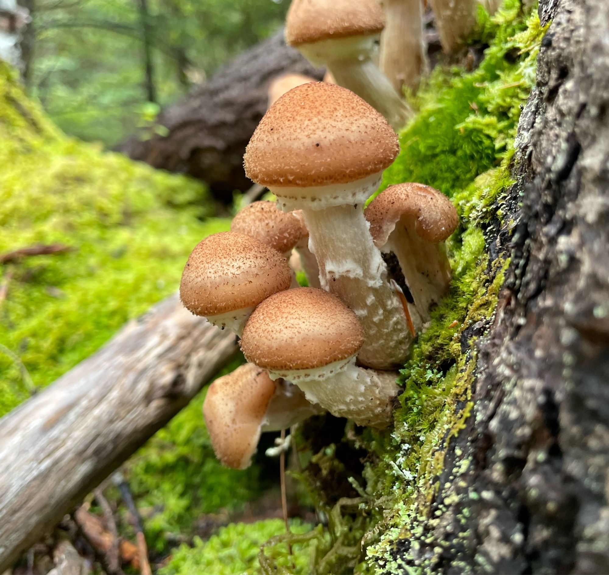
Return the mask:
<svg viewBox="0 0 609 575">
<path fill-rule="evenodd" d="M 228 220 L 205 218 L 202 184 L 67 138 L 2 63 L 0 166 L 0 254 L 74 248 L 0 266 L 1 416 L 32 383 L 48 385 L 175 291 L 191 249 Z M 217 462 L 202 402 L 203 394 L 127 464 L 156 551 L 189 537 L 200 515 L 234 511 L 259 492 L 255 467 L 239 473 Z"/>
</svg>

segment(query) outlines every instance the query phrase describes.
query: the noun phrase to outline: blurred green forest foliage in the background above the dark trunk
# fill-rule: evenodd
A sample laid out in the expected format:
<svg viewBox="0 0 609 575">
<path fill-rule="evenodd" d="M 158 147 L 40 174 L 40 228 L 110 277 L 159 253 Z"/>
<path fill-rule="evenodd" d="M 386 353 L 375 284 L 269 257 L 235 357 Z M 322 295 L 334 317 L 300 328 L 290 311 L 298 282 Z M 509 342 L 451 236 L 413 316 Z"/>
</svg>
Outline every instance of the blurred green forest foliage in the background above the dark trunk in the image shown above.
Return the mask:
<svg viewBox="0 0 609 575">
<path fill-rule="evenodd" d="M 160 106 L 275 32 L 289 0 L 29 0 L 26 82 L 69 134 L 117 144 Z M 147 26 L 144 26 L 144 23 Z M 144 33 L 157 101 L 148 102 Z"/>
</svg>

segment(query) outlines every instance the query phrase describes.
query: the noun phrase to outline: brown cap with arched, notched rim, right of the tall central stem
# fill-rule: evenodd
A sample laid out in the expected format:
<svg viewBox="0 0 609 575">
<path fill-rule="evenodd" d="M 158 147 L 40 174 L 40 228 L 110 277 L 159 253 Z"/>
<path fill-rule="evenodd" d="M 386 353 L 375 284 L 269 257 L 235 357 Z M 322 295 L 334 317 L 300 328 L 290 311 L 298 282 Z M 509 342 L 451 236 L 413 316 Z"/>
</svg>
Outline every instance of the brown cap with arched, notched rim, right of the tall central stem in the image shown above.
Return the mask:
<svg viewBox="0 0 609 575">
<path fill-rule="evenodd" d="M 442 192 L 423 184 L 389 186 L 370 203 L 364 215 L 378 248 L 387 243 L 403 216 L 414 218 L 415 231 L 428 243 L 443 242 L 459 225 L 452 202 Z"/>
</svg>

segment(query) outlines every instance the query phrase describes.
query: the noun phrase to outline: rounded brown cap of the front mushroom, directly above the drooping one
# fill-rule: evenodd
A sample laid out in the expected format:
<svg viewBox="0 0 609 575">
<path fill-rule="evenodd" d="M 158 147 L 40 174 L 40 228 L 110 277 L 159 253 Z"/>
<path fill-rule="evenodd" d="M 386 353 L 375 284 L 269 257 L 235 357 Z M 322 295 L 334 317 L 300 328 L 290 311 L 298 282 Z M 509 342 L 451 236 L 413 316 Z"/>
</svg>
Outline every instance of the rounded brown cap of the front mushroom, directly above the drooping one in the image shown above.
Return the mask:
<svg viewBox="0 0 609 575">
<path fill-rule="evenodd" d="M 364 344 L 357 316 L 339 298 L 314 288 L 276 293 L 254 310 L 241 349 L 271 371 L 315 369 L 347 360 Z"/>
</svg>

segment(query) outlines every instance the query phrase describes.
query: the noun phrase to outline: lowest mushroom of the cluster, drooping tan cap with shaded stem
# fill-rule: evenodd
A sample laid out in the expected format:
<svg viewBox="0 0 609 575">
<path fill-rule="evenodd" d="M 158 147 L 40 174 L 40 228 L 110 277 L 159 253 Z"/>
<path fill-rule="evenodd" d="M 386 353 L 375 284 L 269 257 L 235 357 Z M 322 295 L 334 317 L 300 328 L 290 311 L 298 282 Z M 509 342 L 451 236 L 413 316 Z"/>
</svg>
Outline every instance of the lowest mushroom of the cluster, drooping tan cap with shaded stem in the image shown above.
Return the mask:
<svg viewBox="0 0 609 575">
<path fill-rule="evenodd" d="M 203 417 L 216 457 L 233 469 L 249 467 L 260 434 L 280 431 L 316 413 L 300 389 L 246 363 L 217 378 L 207 391 Z"/>
</svg>

